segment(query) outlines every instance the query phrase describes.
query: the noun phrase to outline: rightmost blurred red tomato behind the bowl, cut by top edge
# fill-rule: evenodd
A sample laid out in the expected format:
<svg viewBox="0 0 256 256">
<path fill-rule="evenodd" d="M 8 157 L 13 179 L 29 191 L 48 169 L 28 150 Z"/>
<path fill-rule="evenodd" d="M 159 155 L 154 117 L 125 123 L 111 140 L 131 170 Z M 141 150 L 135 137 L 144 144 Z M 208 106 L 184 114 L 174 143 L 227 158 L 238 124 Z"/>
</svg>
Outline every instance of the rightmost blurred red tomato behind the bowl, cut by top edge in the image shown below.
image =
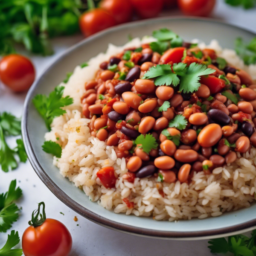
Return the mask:
<svg viewBox="0 0 256 256">
<path fill-rule="evenodd" d="M 178 6 L 186 15 L 208 16 L 216 0 L 178 0 Z"/>
</svg>

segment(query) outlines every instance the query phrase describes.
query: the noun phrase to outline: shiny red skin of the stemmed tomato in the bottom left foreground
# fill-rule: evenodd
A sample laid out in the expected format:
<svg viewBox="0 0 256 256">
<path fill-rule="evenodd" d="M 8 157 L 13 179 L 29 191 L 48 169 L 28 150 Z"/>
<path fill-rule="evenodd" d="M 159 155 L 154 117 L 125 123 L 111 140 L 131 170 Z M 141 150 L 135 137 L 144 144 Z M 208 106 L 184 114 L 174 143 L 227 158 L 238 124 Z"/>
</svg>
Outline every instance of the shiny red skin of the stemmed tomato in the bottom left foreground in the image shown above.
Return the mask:
<svg viewBox="0 0 256 256">
<path fill-rule="evenodd" d="M 25 256 L 68 256 L 72 237 L 60 221 L 47 218 L 41 226 L 28 227 L 22 236 Z"/>
</svg>

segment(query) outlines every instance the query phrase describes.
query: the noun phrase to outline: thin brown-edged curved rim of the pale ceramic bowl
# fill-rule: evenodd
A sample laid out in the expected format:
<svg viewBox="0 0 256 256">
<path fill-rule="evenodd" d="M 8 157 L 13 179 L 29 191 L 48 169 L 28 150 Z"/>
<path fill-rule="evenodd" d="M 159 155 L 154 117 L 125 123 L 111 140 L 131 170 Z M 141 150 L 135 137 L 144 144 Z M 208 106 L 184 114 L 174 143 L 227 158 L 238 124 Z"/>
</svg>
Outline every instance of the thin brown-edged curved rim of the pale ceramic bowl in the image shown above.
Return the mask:
<svg viewBox="0 0 256 256">
<path fill-rule="evenodd" d="M 146 228 L 140 228 L 140 227 L 134 227 L 127 224 L 118 223 L 116 221 L 111 221 L 108 218 L 102 217 L 98 215 L 97 213 L 91 212 L 89 209 L 81 206 L 79 203 L 74 201 L 72 198 L 70 198 L 60 187 L 58 187 L 53 180 L 47 175 L 47 173 L 44 171 L 43 167 L 40 165 L 40 163 L 37 160 L 35 151 L 32 148 L 32 143 L 29 138 L 28 133 L 28 127 L 27 127 L 27 119 L 29 115 L 29 105 L 32 101 L 32 96 L 34 93 L 34 90 L 38 86 L 38 84 L 44 79 L 45 74 L 52 68 L 52 66 L 55 66 L 58 64 L 62 58 L 69 55 L 73 50 L 75 50 L 77 47 L 82 46 L 83 44 L 86 44 L 87 42 L 93 41 L 96 38 L 101 38 L 104 35 L 112 32 L 119 31 L 120 29 L 125 29 L 127 27 L 133 27 L 137 25 L 143 25 L 148 22 L 154 22 L 158 20 L 168 21 L 168 20 L 195 20 L 195 21 L 203 21 L 203 22 L 210 22 L 210 23 L 216 23 L 219 25 L 225 25 L 229 27 L 233 27 L 238 30 L 246 31 L 249 34 L 252 34 L 253 36 L 256 36 L 256 34 L 249 29 L 244 29 L 239 26 L 235 26 L 233 24 L 229 24 L 227 22 L 223 22 L 220 20 L 215 20 L 212 18 L 198 18 L 198 17 L 185 17 L 185 16 L 177 16 L 177 17 L 158 17 L 154 19 L 147 19 L 147 20 L 140 20 L 140 21 L 133 21 L 130 23 L 121 24 L 118 26 L 114 26 L 113 28 L 103 30 L 102 32 L 98 32 L 93 36 L 90 36 L 89 38 L 85 38 L 81 40 L 80 42 L 74 44 L 72 47 L 69 47 L 66 49 L 61 55 L 58 56 L 58 58 L 55 59 L 48 67 L 41 73 L 41 76 L 38 77 L 38 79 L 35 80 L 35 82 L 32 84 L 32 87 L 30 87 L 26 99 L 24 102 L 24 109 L 23 109 L 23 115 L 22 115 L 22 122 L 21 122 L 21 128 L 22 128 L 22 137 L 24 140 L 25 149 L 29 158 L 29 162 L 31 163 L 33 169 L 35 170 L 38 177 L 43 181 L 43 183 L 47 186 L 47 188 L 64 204 L 66 204 L 68 207 L 73 209 L 75 212 L 80 214 L 81 216 L 89 219 L 90 221 L 93 221 L 97 224 L 100 224 L 104 227 L 108 227 L 113 230 L 117 230 L 123 233 L 129 233 L 137 236 L 145 236 L 145 237 L 151 237 L 151 238 L 158 238 L 158 239 L 179 239 L 179 240 L 197 240 L 197 239 L 210 239 L 215 237 L 221 237 L 221 236 L 227 236 L 237 233 L 242 233 L 245 231 L 253 230 L 253 228 L 256 227 L 256 218 L 247 221 L 241 224 L 233 225 L 230 227 L 223 227 L 219 229 L 214 230 L 203 230 L 203 231 L 183 231 L 183 232 L 177 232 L 177 231 L 161 231 L 161 230 L 151 230 Z"/>
</svg>

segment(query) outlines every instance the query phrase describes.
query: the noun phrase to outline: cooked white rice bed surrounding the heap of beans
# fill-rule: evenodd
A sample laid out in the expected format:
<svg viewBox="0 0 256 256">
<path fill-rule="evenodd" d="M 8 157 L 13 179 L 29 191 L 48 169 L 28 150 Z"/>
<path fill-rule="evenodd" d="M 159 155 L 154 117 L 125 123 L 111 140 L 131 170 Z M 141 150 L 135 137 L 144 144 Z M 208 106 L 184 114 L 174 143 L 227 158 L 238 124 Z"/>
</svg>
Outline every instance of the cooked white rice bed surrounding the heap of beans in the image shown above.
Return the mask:
<svg viewBox="0 0 256 256">
<path fill-rule="evenodd" d="M 156 220 L 174 221 L 191 219 L 193 217 L 207 218 L 219 216 L 223 212 L 250 207 L 256 190 L 256 148 L 250 152 L 238 155 L 233 164 L 213 170 L 211 175 L 204 172 L 195 173 L 192 182 L 160 183 L 156 177 L 135 178 L 134 183 L 122 179 L 128 172 L 125 159 L 117 158 L 113 146 L 90 136 L 88 123 L 81 113 L 80 98 L 84 93 L 84 83 L 94 78 L 99 64 L 111 56 L 129 47 L 140 47 L 143 43 L 154 41 L 154 38 L 135 38 L 123 47 L 109 45 L 107 52 L 100 53 L 90 59 L 89 66 L 77 66 L 65 86 L 64 96 L 69 95 L 74 103 L 65 107 L 63 116 L 55 118 L 52 130 L 45 135 L 46 140 L 58 142 L 62 146 L 61 158 L 54 157 L 53 164 L 58 166 L 63 177 L 69 178 L 75 186 L 84 190 L 93 202 L 114 212 L 124 212 L 137 216 L 154 216 Z M 200 43 L 201 49 L 205 48 Z M 215 49 L 217 54 L 230 64 L 246 70 L 256 79 L 256 65 L 245 66 L 236 52 L 231 49 L 221 49 L 213 40 L 208 48 Z M 58 140 L 56 139 L 58 138 Z M 102 186 L 96 173 L 102 167 L 113 166 L 119 178 L 115 189 Z M 164 197 L 159 191 L 164 192 Z M 124 198 L 134 203 L 129 209 Z"/>
</svg>

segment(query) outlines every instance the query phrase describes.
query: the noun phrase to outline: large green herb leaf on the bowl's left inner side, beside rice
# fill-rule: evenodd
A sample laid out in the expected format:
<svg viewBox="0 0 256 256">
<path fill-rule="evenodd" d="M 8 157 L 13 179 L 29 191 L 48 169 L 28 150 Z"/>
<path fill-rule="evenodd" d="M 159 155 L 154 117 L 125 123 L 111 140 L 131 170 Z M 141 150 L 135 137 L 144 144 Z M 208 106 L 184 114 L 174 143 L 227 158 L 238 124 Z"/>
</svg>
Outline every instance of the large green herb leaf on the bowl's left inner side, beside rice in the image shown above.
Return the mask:
<svg viewBox="0 0 256 256">
<path fill-rule="evenodd" d="M 48 97 L 44 94 L 38 94 L 32 99 L 35 108 L 44 118 L 44 122 L 49 131 L 53 118 L 66 113 L 62 108 L 73 103 L 73 99 L 70 98 L 70 96 L 62 97 L 63 92 L 64 86 L 57 86 Z"/>
</svg>

